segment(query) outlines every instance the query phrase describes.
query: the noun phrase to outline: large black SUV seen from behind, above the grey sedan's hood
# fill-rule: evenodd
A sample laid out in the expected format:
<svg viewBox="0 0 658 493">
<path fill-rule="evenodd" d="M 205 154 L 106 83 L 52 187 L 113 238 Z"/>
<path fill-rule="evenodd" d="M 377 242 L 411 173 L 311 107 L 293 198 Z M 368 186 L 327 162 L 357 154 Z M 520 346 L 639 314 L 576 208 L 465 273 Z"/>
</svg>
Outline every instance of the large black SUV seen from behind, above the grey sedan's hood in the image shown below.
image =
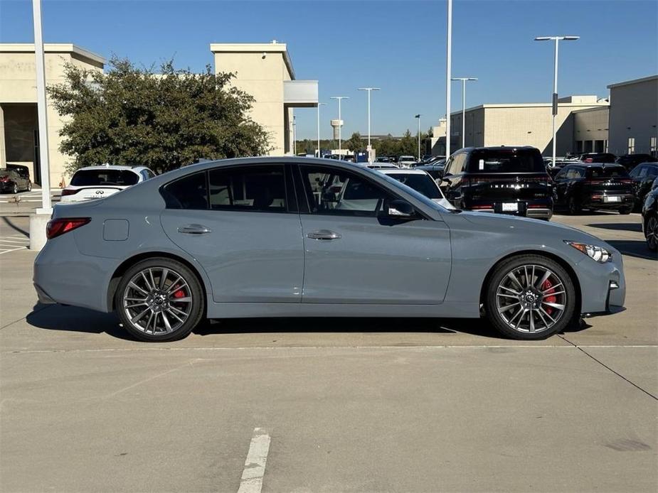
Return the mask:
<svg viewBox="0 0 658 493">
<path fill-rule="evenodd" d="M 537 148 L 467 147 L 445 163 L 441 189 L 465 210 L 538 219 L 553 215 L 553 187 Z"/>
</svg>

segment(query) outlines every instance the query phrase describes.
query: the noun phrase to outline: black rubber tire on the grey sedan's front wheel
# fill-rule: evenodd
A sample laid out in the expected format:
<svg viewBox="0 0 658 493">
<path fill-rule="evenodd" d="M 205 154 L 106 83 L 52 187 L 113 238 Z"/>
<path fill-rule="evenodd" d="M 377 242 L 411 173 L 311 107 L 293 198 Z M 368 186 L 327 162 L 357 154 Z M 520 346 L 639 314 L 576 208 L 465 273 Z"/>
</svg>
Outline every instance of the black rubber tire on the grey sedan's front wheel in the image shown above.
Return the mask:
<svg viewBox="0 0 658 493">
<path fill-rule="evenodd" d="M 551 276 L 549 279 L 553 279 L 553 285 L 554 286 L 559 286 L 556 281 L 559 281 L 562 283 L 564 287 L 564 293 L 560 294 L 561 298 L 556 299 L 553 295 L 548 295 L 545 296 L 544 298 L 546 300 L 551 299 L 550 297 L 553 296 L 553 303 L 556 303 L 559 301 L 561 305 L 563 305 L 564 309 L 562 310 L 561 314 L 556 318 L 555 323 L 552 323 L 552 325 L 549 327 L 548 324 L 546 324 L 546 328 L 542 328 L 541 330 L 538 330 L 536 332 L 531 332 L 531 321 L 528 320 L 527 325 L 529 327 L 524 327 L 522 325 L 517 324 L 519 327 L 518 329 L 511 327 L 509 325 L 509 320 L 504 319 L 504 315 L 500 313 L 499 305 L 498 305 L 498 300 L 501 299 L 506 299 L 506 298 L 500 298 L 500 296 L 504 296 L 506 291 L 504 291 L 505 288 L 499 288 L 501 284 L 503 283 L 504 280 L 508 278 L 508 273 L 510 272 L 515 272 L 516 269 L 523 269 L 524 266 L 535 266 L 537 269 L 537 272 L 540 271 L 540 269 L 548 269 L 548 271 L 551 271 L 554 276 Z M 533 276 L 529 276 L 533 277 Z M 521 279 L 521 281 L 523 281 Z M 541 281 L 541 279 L 540 279 Z M 538 283 L 536 279 L 533 278 L 531 283 Z M 542 283 L 541 286 L 544 286 Z M 541 287 L 540 286 L 540 287 Z M 553 334 L 556 334 L 558 332 L 563 332 L 563 330 L 570 325 L 572 322 L 574 315 L 575 314 L 575 306 L 576 306 L 576 296 L 575 296 L 575 288 L 573 286 L 573 281 L 571 280 L 571 276 L 567 273 L 567 271 L 556 261 L 553 261 L 552 259 L 548 259 L 545 256 L 541 255 L 519 255 L 519 256 L 514 256 L 511 257 L 510 259 L 506 259 L 502 261 L 499 265 L 497 265 L 494 268 L 494 271 L 492 273 L 492 276 L 489 279 L 489 285 L 486 287 L 487 291 L 485 292 L 484 296 L 484 310 L 487 313 L 487 318 L 489 321 L 494 325 L 496 330 L 500 332 L 502 335 L 505 337 L 509 337 L 510 339 L 519 339 L 519 340 L 540 340 L 540 339 L 546 339 L 546 337 L 550 337 Z M 518 288 L 517 288 L 518 289 Z M 524 297 L 524 288 L 519 289 L 521 292 L 521 297 L 519 298 L 519 308 L 522 309 L 520 306 L 522 303 L 524 303 L 526 300 L 521 299 Z M 553 290 L 554 292 L 557 293 L 557 291 Z M 499 294 L 500 293 L 500 294 Z M 509 293 L 507 293 L 509 295 Z M 514 296 L 508 296 L 508 298 L 513 298 Z M 539 303 L 537 303 L 538 306 L 541 306 L 541 308 L 544 308 L 546 306 L 546 310 L 553 310 L 553 308 L 548 307 L 548 305 L 544 305 L 541 303 L 544 298 L 539 298 Z M 515 300 L 511 300 L 510 303 L 514 303 Z M 506 306 L 502 307 L 506 308 Z M 512 314 L 515 313 L 514 309 L 508 310 Z M 506 312 L 505 312 L 506 313 Z M 527 313 L 527 312 L 526 312 Z M 546 313 L 544 311 L 543 313 Z M 552 315 L 557 316 L 556 312 L 551 311 L 550 312 Z M 516 315 L 514 315 L 516 317 Z M 510 318 L 514 318 L 510 317 Z M 540 318 L 546 318 L 544 315 L 537 315 L 536 311 L 531 310 L 531 313 L 529 315 L 529 319 L 532 319 L 533 322 L 534 320 L 538 320 L 538 324 L 541 324 Z M 521 313 L 521 317 L 519 320 L 523 320 L 526 318 L 525 313 Z M 548 319 L 546 319 L 548 320 Z"/>
</svg>

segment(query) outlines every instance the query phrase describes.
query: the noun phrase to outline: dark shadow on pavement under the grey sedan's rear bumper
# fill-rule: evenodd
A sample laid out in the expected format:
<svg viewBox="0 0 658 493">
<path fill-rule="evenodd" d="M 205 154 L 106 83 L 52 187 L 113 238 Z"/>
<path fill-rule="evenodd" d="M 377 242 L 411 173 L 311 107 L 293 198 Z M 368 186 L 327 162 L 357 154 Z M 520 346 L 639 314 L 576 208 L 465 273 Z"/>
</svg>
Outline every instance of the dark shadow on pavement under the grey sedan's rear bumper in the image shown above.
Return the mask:
<svg viewBox="0 0 658 493">
<path fill-rule="evenodd" d="M 119 325 L 119 319 L 114 313 L 102 313 L 75 306 L 37 303 L 32 308 L 32 312 L 27 315 L 26 320 L 30 325 L 40 329 L 86 332 L 87 334 L 105 332 L 117 339 L 134 340 Z"/>
</svg>

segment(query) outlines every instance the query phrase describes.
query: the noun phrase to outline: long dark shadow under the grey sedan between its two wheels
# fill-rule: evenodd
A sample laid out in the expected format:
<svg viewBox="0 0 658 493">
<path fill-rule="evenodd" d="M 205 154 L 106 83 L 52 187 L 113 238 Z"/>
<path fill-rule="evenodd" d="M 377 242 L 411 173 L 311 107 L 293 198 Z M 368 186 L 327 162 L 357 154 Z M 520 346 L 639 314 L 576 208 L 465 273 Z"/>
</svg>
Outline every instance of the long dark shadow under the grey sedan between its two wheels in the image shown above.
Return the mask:
<svg viewBox="0 0 658 493">
<path fill-rule="evenodd" d="M 225 318 L 208 320 L 196 327 L 196 335 L 273 332 L 431 332 L 435 334 L 499 335 L 484 319 L 447 318 Z"/>
</svg>

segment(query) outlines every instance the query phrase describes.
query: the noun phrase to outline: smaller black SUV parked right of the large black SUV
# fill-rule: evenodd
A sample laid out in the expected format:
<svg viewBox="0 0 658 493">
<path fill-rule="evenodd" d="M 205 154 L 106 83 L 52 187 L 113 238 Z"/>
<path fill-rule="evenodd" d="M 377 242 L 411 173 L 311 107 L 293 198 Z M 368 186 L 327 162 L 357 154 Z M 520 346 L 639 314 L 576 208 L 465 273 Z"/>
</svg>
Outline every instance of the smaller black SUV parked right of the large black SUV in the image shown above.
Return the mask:
<svg viewBox="0 0 658 493">
<path fill-rule="evenodd" d="M 571 214 L 583 209 L 630 214 L 635 204 L 633 180 L 620 164 L 569 164 L 555 177 L 555 205 Z"/>
</svg>

